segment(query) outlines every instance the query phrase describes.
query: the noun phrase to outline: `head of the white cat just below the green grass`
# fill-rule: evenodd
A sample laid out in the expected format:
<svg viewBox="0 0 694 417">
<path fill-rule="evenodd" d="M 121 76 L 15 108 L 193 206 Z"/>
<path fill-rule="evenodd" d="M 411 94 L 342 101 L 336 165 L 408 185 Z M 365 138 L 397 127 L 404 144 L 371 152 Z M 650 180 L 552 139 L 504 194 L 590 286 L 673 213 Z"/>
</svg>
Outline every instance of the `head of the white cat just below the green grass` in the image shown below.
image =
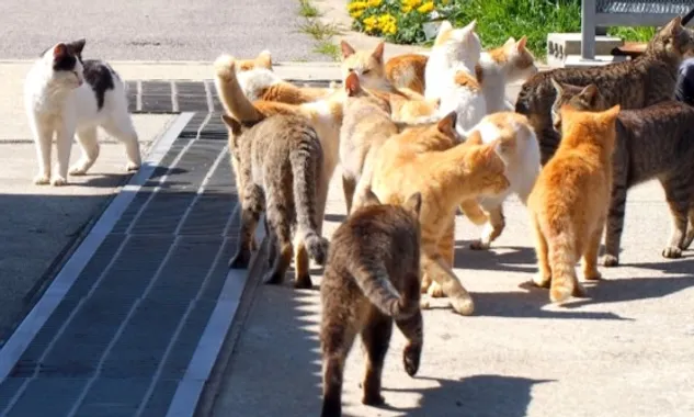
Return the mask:
<svg viewBox="0 0 694 417">
<path fill-rule="evenodd" d="M 451 22 L 443 21 L 434 40 L 434 49 L 444 49 L 445 54 L 460 60 L 468 68 L 473 68 L 482 54 L 482 44 L 475 32 L 477 20 L 473 20 L 464 27 L 454 29 Z"/>
</svg>

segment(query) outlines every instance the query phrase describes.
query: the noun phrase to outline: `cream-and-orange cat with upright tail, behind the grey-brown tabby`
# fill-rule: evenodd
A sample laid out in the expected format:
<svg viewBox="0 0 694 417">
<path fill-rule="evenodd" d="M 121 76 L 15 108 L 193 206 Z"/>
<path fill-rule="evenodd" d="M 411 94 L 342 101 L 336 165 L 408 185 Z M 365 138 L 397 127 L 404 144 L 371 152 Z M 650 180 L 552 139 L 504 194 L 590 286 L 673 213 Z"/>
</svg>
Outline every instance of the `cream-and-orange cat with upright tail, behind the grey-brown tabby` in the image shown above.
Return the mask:
<svg viewBox="0 0 694 417">
<path fill-rule="evenodd" d="M 299 115 L 305 117 L 318 134 L 322 150 L 322 161 L 316 181 L 316 215 L 318 218 L 317 233 L 322 233 L 322 218 L 326 212 L 328 188 L 339 160 L 340 126 L 342 124 L 342 105 L 344 92 L 339 90 L 325 100 L 293 105 L 273 101 L 258 100 L 250 102 L 237 81 L 234 57 L 223 54 L 214 64 L 215 89 L 225 111 L 241 125 L 252 125 L 275 114 Z M 239 178 L 239 164 L 232 160 L 232 170 Z M 254 230 L 250 230 L 253 233 Z M 254 247 L 251 238 L 251 247 Z M 302 280 L 310 280 L 308 260 L 303 241 L 295 241 L 296 275 Z"/>
</svg>

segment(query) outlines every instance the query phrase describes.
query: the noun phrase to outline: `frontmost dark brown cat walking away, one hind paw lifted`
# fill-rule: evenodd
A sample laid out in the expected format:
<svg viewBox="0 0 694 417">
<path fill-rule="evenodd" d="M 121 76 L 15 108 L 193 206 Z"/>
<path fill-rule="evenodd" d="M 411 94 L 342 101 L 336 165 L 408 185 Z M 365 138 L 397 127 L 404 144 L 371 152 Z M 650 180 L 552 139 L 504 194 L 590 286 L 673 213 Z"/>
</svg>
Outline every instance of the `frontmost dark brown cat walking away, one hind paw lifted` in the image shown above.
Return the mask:
<svg viewBox="0 0 694 417">
<path fill-rule="evenodd" d="M 407 338 L 406 372 L 413 376 L 419 370 L 421 203 L 421 195 L 414 193 L 401 205 L 380 204 L 368 191 L 364 205 L 332 235 L 320 285 L 322 417 L 342 415 L 344 364 L 357 334 L 366 351 L 362 403 L 385 403 L 380 380 L 392 322 Z"/>
</svg>

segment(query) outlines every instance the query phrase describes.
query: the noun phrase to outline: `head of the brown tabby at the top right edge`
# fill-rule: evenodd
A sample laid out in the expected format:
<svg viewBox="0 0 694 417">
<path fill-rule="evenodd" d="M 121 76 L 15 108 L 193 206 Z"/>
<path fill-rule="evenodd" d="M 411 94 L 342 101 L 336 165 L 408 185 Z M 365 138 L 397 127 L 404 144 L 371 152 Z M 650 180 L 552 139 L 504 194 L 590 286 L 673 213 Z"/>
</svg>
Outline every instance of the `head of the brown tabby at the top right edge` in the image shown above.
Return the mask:
<svg viewBox="0 0 694 417">
<path fill-rule="evenodd" d="M 694 56 L 694 33 L 682 25 L 681 16 L 675 16 L 650 40 L 645 55 L 679 65 L 683 58 Z"/>
</svg>

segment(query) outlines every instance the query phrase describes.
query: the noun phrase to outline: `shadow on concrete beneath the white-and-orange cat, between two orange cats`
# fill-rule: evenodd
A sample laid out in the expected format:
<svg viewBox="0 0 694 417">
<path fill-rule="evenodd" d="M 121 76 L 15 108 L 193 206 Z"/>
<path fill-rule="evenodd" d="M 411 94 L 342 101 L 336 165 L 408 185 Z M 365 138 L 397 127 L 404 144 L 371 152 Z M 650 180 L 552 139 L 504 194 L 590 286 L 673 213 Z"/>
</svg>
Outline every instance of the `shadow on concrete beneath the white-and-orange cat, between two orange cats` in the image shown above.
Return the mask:
<svg viewBox="0 0 694 417">
<path fill-rule="evenodd" d="M 476 269 L 535 273 L 535 249 L 523 246 L 492 246 L 488 250 L 474 250 L 463 240 L 455 243 L 456 269 Z"/>
</svg>

